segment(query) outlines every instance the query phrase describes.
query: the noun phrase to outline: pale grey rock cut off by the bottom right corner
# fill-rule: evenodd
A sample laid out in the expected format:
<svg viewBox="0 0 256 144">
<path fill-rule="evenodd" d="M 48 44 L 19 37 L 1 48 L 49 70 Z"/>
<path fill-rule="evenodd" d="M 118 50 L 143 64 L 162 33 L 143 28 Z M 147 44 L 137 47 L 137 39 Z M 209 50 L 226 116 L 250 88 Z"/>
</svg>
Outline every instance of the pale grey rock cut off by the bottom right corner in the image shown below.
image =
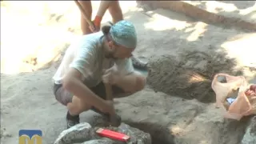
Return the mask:
<svg viewBox="0 0 256 144">
<path fill-rule="evenodd" d="M 250 125 L 246 129 L 246 134 L 242 138 L 242 144 L 256 143 L 256 116 L 251 119 Z"/>
</svg>

